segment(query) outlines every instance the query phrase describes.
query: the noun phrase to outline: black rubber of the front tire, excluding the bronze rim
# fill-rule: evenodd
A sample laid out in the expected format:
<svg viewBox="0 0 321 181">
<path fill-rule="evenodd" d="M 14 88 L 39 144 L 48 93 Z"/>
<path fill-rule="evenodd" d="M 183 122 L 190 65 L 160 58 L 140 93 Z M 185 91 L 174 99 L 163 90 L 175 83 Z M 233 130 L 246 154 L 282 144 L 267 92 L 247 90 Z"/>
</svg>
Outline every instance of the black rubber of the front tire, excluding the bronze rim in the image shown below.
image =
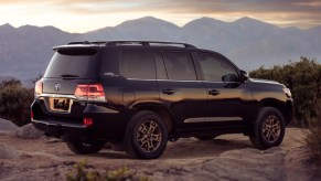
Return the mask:
<svg viewBox="0 0 321 181">
<path fill-rule="evenodd" d="M 278 139 L 274 142 L 268 142 L 265 138 L 264 138 L 264 132 L 263 132 L 263 126 L 264 126 L 264 123 L 266 120 L 267 117 L 269 116 L 276 116 L 279 121 L 280 121 L 280 127 L 281 127 L 281 130 L 280 130 L 280 135 L 278 137 Z M 285 119 L 283 119 L 283 116 L 281 115 L 281 113 L 276 109 L 276 108 L 272 108 L 272 107 L 267 107 L 267 108 L 264 108 L 263 111 L 259 114 L 259 117 L 258 117 L 258 120 L 256 123 L 256 134 L 257 134 L 257 137 L 259 139 L 259 142 L 261 143 L 261 147 L 265 148 L 265 149 L 268 149 L 268 148 L 271 148 L 271 147 L 276 147 L 276 146 L 279 146 L 282 140 L 283 140 L 283 137 L 285 137 Z"/>
</svg>

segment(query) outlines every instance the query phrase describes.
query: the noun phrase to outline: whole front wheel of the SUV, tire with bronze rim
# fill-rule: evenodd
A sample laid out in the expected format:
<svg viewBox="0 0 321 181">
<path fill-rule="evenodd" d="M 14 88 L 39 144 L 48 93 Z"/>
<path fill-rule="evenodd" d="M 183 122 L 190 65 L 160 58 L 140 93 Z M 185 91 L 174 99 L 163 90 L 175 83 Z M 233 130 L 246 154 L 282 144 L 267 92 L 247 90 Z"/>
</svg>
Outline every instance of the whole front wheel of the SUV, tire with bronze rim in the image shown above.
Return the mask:
<svg viewBox="0 0 321 181">
<path fill-rule="evenodd" d="M 265 150 L 279 146 L 285 137 L 286 126 L 282 114 L 274 107 L 260 108 L 249 136 L 255 148 Z"/>
</svg>

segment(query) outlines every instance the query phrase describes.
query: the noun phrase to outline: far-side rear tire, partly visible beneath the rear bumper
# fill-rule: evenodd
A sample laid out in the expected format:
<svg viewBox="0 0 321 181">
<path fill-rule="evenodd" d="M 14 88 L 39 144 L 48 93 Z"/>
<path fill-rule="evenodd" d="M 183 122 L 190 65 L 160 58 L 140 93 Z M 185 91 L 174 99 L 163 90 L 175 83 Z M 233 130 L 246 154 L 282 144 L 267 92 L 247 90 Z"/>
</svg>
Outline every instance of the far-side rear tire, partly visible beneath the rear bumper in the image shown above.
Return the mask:
<svg viewBox="0 0 321 181">
<path fill-rule="evenodd" d="M 89 155 L 99 152 L 105 142 L 84 143 L 75 140 L 66 140 L 67 147 L 76 155 Z"/>
</svg>

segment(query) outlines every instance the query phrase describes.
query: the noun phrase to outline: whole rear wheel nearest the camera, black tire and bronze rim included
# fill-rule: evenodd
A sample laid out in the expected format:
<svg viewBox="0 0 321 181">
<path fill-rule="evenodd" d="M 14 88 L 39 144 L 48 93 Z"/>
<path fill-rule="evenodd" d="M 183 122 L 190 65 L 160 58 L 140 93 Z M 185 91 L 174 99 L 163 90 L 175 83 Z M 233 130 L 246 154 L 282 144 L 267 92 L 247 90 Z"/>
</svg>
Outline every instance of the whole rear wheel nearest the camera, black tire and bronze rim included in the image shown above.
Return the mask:
<svg viewBox="0 0 321 181">
<path fill-rule="evenodd" d="M 156 159 L 167 148 L 168 130 L 158 114 L 142 110 L 130 119 L 126 141 L 126 152 L 131 158 Z"/>
</svg>

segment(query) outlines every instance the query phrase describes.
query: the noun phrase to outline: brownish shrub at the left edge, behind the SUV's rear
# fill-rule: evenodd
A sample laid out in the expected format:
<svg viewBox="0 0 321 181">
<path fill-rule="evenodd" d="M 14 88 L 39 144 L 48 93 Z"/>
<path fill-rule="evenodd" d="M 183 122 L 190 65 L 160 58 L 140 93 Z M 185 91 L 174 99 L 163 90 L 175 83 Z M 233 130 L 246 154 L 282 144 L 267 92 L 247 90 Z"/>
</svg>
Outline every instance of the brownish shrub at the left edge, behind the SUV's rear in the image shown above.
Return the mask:
<svg viewBox="0 0 321 181">
<path fill-rule="evenodd" d="M 20 81 L 10 79 L 0 83 L 0 117 L 18 126 L 30 123 L 30 105 L 33 89 L 22 86 Z"/>
</svg>

